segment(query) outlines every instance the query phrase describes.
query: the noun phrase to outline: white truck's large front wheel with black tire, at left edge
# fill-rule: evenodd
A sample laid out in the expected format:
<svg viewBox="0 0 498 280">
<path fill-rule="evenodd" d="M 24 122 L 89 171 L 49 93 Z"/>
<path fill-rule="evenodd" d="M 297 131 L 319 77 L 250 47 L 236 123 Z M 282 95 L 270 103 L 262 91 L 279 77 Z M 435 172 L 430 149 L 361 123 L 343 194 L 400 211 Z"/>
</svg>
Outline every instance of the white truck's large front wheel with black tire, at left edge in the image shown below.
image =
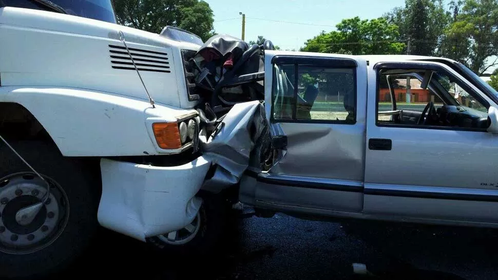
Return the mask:
<svg viewBox="0 0 498 280">
<path fill-rule="evenodd" d="M 60 271 L 90 243 L 98 196 L 86 166 L 43 142 L 9 143 L 50 184 L 48 201 L 28 225 L 15 213 L 41 202 L 46 183 L 0 142 L 0 278 L 37 278 Z"/>
</svg>

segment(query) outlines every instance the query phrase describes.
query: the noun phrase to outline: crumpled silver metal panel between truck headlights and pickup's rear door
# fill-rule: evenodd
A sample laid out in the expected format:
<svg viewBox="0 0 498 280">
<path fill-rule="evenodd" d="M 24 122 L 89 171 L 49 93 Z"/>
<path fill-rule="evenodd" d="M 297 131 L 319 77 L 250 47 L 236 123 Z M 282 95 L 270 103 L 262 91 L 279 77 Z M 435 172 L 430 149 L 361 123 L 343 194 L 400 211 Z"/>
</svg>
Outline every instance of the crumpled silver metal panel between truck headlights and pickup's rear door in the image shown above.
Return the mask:
<svg viewBox="0 0 498 280">
<path fill-rule="evenodd" d="M 214 175 L 206 179 L 202 188 L 219 192 L 237 184 L 265 131 L 264 107 L 259 101 L 252 101 L 236 104 L 223 118 L 214 136 L 207 139 L 201 135 L 203 157 L 216 165 Z"/>
</svg>

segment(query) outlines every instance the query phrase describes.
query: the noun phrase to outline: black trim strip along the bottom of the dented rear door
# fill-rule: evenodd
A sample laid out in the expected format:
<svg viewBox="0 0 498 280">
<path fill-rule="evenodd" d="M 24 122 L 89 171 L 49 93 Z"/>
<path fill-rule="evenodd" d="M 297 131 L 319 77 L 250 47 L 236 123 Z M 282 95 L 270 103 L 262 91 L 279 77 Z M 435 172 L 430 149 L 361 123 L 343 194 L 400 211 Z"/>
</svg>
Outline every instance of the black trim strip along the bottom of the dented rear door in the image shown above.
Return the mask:
<svg viewBox="0 0 498 280">
<path fill-rule="evenodd" d="M 254 171 L 246 170 L 245 173 L 247 176 L 256 178 L 258 182 L 272 185 L 283 185 L 289 187 L 299 187 L 305 189 L 317 189 L 317 190 L 329 190 L 329 191 L 348 191 L 348 192 L 362 192 L 363 187 L 361 186 L 348 186 L 348 185 L 340 185 L 340 184 L 329 184 L 329 183 L 317 183 L 317 182 L 306 182 L 306 181 L 297 181 L 290 179 L 275 179 L 275 178 L 265 178 L 259 176 Z"/>
</svg>

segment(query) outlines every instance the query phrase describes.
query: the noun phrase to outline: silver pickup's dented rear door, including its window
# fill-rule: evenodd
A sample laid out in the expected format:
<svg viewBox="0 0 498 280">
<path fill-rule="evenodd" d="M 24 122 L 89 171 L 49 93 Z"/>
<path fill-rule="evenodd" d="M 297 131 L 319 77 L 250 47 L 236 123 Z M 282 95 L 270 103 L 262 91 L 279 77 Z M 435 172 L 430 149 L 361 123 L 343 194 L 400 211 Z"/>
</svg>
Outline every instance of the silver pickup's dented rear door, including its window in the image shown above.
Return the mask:
<svg viewBox="0 0 498 280">
<path fill-rule="evenodd" d="M 253 187 L 243 179 L 241 201 L 301 213 L 361 211 L 366 61 L 265 55 L 265 113 L 280 137 L 266 170 L 248 179 Z"/>
</svg>

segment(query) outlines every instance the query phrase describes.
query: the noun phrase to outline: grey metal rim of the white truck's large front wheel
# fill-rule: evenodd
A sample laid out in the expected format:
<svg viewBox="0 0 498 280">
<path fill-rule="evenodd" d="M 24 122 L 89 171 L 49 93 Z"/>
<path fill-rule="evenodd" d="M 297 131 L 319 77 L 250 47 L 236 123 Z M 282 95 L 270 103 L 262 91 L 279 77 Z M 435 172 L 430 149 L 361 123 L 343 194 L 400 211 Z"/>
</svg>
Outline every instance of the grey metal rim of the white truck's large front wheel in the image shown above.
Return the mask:
<svg viewBox="0 0 498 280">
<path fill-rule="evenodd" d="M 15 220 L 18 210 L 42 201 L 47 184 L 33 173 L 15 173 L 0 179 L 0 251 L 29 254 L 51 245 L 64 231 L 69 218 L 67 195 L 53 179 L 45 177 L 50 195 L 40 212 L 26 226 Z"/>
</svg>

